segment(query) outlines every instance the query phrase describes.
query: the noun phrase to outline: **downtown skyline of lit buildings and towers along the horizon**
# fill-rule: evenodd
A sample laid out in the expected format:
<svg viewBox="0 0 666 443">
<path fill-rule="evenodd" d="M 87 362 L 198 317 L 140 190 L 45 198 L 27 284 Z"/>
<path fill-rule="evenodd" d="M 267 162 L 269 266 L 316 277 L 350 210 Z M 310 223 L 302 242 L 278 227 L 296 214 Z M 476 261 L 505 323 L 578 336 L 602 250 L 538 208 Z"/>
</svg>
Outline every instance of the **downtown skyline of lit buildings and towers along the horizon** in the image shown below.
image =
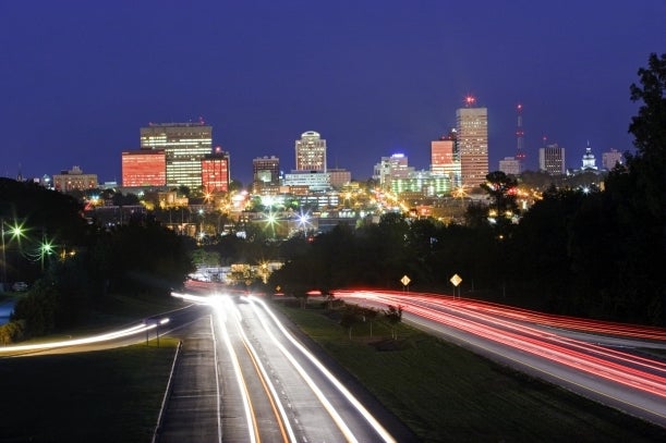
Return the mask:
<svg viewBox="0 0 666 443">
<path fill-rule="evenodd" d="M 499 161 L 498 170 L 512 175 L 524 171 L 521 106 L 518 107 L 517 153 Z M 213 145 L 213 126 L 204 121 L 190 123 L 150 123 L 140 131 L 140 148 L 121 155 L 122 184 L 125 192 L 141 189 L 179 189 L 187 187 L 203 194 L 228 193 L 231 183 L 231 156 Z M 326 140 L 308 131 L 294 143 L 294 168 L 283 172 L 275 156 L 253 160 L 251 190 L 255 195 L 324 195 L 350 184 L 351 173 L 328 168 Z M 602 169 L 610 170 L 622 162 L 616 150 L 604 152 Z M 581 170 L 597 170 L 590 145 Z M 565 148 L 546 145 L 538 149 L 538 169 L 552 175 L 564 175 Z M 451 195 L 456 189 L 479 187 L 489 172 L 488 113 L 468 97 L 465 106 L 456 111 L 456 127 L 431 143 L 428 170 L 415 170 L 407 156 L 383 157 L 374 165 L 373 179 L 379 187 L 396 195 L 420 193 L 426 197 Z M 69 192 L 99 187 L 95 174 L 85 174 L 74 167 L 53 176 L 52 187 Z M 323 205 L 335 201 L 315 198 Z M 315 202 L 315 201 L 313 201 Z"/>
</svg>

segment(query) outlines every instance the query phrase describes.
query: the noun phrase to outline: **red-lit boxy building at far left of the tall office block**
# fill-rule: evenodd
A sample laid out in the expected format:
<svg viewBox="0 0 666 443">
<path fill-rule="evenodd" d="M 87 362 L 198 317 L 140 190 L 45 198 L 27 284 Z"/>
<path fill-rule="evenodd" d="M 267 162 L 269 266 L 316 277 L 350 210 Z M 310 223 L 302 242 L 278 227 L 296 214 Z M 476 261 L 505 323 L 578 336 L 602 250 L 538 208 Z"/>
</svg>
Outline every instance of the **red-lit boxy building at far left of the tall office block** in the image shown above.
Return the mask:
<svg viewBox="0 0 666 443">
<path fill-rule="evenodd" d="M 123 186 L 165 186 L 166 184 L 167 158 L 164 150 L 144 149 L 122 152 Z"/>
</svg>

